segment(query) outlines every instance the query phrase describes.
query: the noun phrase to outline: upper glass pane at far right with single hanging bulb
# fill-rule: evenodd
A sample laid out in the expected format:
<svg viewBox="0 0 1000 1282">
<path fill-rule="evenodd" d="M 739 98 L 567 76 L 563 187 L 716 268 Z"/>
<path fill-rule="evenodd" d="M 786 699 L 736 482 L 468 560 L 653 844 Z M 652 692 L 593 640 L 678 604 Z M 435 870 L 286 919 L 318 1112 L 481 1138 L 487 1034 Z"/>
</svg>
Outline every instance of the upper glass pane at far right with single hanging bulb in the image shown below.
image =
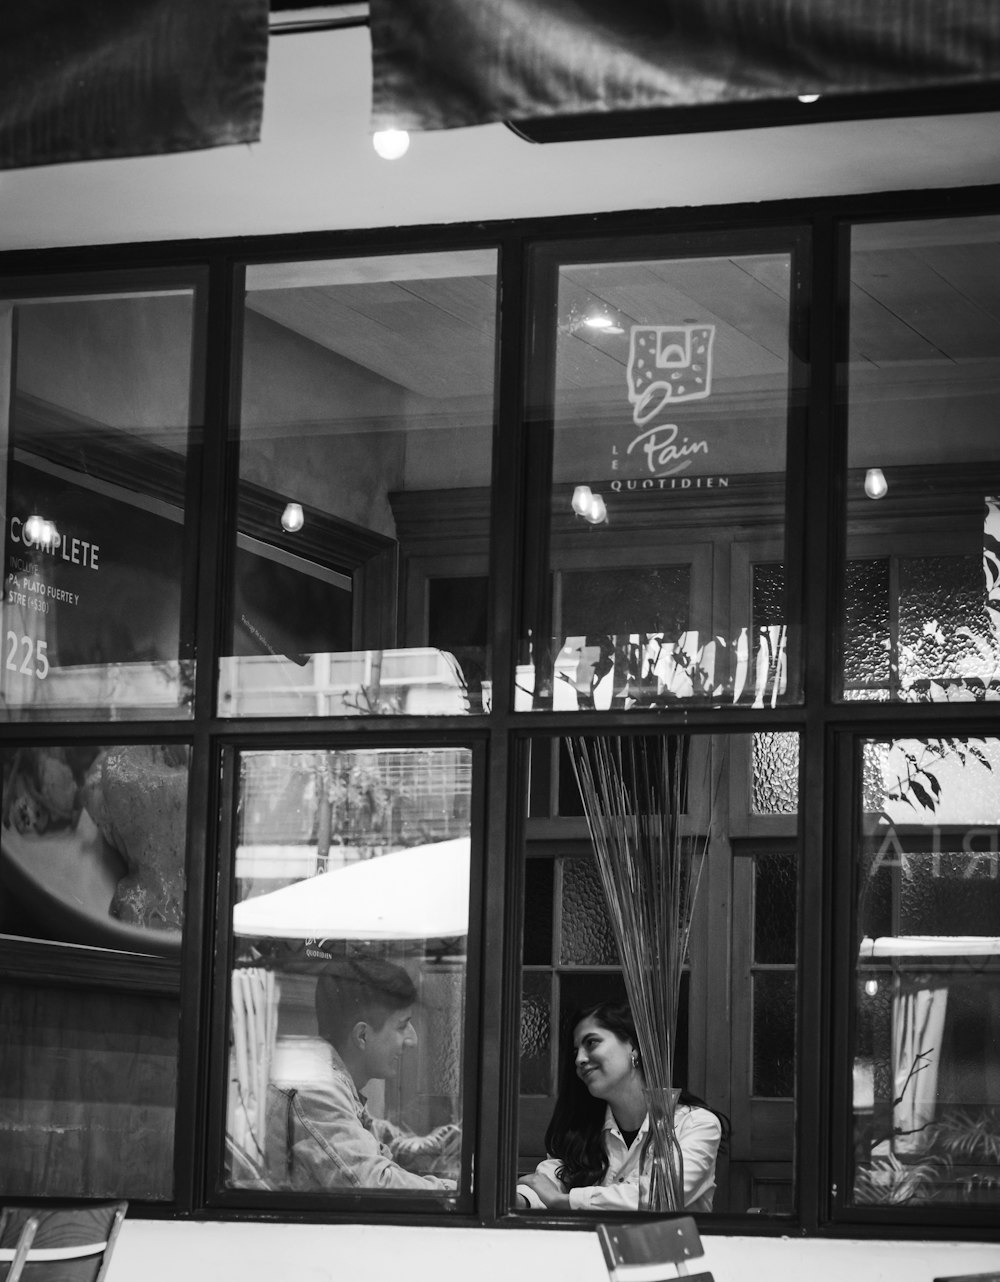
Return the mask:
<svg viewBox="0 0 1000 1282">
<path fill-rule="evenodd" d="M 851 235 L 842 696 L 1000 694 L 1000 218 Z"/>
</svg>

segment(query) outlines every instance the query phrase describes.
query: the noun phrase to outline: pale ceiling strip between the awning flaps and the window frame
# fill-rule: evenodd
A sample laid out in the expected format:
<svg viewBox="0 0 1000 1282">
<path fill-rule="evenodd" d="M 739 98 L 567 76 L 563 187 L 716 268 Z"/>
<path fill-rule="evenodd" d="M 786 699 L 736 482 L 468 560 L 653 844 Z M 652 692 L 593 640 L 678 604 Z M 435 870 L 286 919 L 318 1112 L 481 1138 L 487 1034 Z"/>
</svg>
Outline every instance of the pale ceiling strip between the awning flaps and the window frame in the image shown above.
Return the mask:
<svg viewBox="0 0 1000 1282">
<path fill-rule="evenodd" d="M 274 36 L 259 144 L 0 172 L 0 249 L 505 219 L 1000 183 L 1000 113 L 545 146 L 368 136 L 364 27 Z"/>
</svg>

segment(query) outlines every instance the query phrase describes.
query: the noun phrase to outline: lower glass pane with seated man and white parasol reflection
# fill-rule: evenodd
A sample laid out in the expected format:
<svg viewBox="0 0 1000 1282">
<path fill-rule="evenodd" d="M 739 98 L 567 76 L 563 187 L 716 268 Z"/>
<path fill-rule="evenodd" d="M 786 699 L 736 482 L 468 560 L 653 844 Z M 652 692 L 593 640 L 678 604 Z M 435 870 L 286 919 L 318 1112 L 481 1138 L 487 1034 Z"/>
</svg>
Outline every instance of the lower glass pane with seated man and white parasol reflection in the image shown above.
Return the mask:
<svg viewBox="0 0 1000 1282">
<path fill-rule="evenodd" d="M 472 754 L 238 760 L 227 1182 L 451 1204 Z"/>
</svg>

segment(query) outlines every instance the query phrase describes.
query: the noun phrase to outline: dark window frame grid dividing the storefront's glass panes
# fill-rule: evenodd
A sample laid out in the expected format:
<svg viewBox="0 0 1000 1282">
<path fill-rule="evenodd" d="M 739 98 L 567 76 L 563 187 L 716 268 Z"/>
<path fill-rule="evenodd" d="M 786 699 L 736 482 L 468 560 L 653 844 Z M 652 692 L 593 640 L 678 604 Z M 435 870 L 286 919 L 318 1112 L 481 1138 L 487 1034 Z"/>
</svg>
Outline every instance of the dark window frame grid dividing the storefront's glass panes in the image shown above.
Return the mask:
<svg viewBox="0 0 1000 1282">
<path fill-rule="evenodd" d="M 646 732 L 703 728 L 718 733 L 754 729 L 795 731 L 801 735 L 799 881 L 799 994 L 797 994 L 797 1206 L 792 1228 L 814 1236 L 862 1237 L 983 1237 L 995 1232 L 995 1208 L 979 1211 L 949 1206 L 849 1209 L 841 1190 L 850 1164 L 850 1081 L 836 1051 L 850 1045 L 853 959 L 847 941 L 853 920 L 849 808 L 835 799 L 853 795 L 856 786 L 854 745 L 872 735 L 986 733 L 991 723 L 976 705 L 840 704 L 836 701 L 837 619 L 846 546 L 846 301 L 850 227 L 863 222 L 921 221 L 1000 212 L 1000 188 L 965 191 L 888 192 L 858 197 L 822 197 L 769 205 L 712 209 L 649 210 L 496 224 L 381 228 L 372 232 L 315 232 L 303 236 L 167 241 L 145 245 L 15 251 L 0 255 L 3 285 L 13 291 L 49 292 L 60 281 L 86 273 L 119 273 L 128 286 L 150 273 L 203 273 L 201 369 L 204 370 L 205 431 L 197 445 L 186 494 L 186 510 L 197 528 L 194 581 L 195 647 L 200 676 L 190 720 L 149 719 L 117 723 L 114 729 L 92 720 L 69 720 L 58 735 L 51 724 L 9 722 L 5 741 L 45 744 L 88 742 L 114 736 L 118 741 L 191 742 L 188 809 L 188 879 L 185 944 L 181 962 L 179 1061 L 174 1147 L 174 1199 L 169 1204 L 135 1203 L 131 1213 L 150 1218 L 246 1218 L 267 1215 L 300 1220 L 356 1220 L 371 1210 L 373 1223 L 479 1224 L 590 1229 L 568 1218 L 524 1217 L 510 1211 L 517 1132 L 517 1047 L 509 1036 L 518 1010 L 521 958 L 521 895 L 523 874 L 510 856 L 521 847 L 526 815 L 523 749 L 531 736 L 558 733 L 567 717 L 550 712 L 513 712 L 513 672 L 518 651 L 517 627 L 532 581 L 526 564 L 533 555 L 532 506 L 547 479 L 532 463 L 537 446 L 524 428 L 537 385 L 526 383 L 532 349 L 531 326 L 544 322 L 553 300 L 536 294 L 532 254 L 573 258 L 576 246 L 604 258 L 597 246 L 609 237 L 627 244 L 623 258 L 638 254 L 644 238 L 659 245 L 664 235 L 700 238 L 710 232 L 742 247 L 754 235 L 781 237 L 796 226 L 808 231 L 810 251 L 800 260 L 801 294 L 792 328 L 792 356 L 805 368 L 808 382 L 796 379 L 790 406 L 786 458 L 786 545 L 797 562 L 788 562 L 788 615 L 801 619 L 803 703 L 753 712 L 690 709 L 681 713 L 574 713 L 574 731 L 628 729 Z M 741 236 L 744 240 L 741 240 Z M 631 240 L 629 237 L 635 237 Z M 490 614 L 494 663 L 494 708 L 490 714 L 463 718 L 392 718 L 376 722 L 351 718 L 313 723 L 273 718 L 221 718 L 217 714 L 215 656 L 223 646 L 221 588 L 226 583 L 229 544 L 235 538 L 232 492 L 232 406 L 238 397 L 238 312 L 241 264 L 303 260 L 349 254 L 415 253 L 455 247 L 499 247 L 500 308 L 497 327 L 496 414 L 494 474 L 490 496 L 488 549 Z M 576 260 L 576 259 L 573 259 Z M 549 310 L 546 310 L 549 309 Z M 809 356 L 812 354 L 812 362 Z M 537 365 L 535 367 L 537 369 Z M 800 370 L 801 372 L 801 370 Z M 537 378 L 532 376 L 532 378 Z M 799 431 L 808 422 L 808 432 Z M 541 487 L 541 490 L 540 490 Z M 792 492 L 794 491 L 794 492 Z M 547 514 L 547 503 L 541 508 Z M 546 517 L 547 519 L 547 517 Z M 537 515 L 536 515 L 537 523 Z M 804 585 L 812 585 L 805 591 Z M 817 586 L 818 585 L 818 586 Z M 477 832 L 482 863 L 478 869 L 481 904 L 478 950 L 469 947 L 467 1020 L 474 1008 L 476 1038 L 467 1044 L 465 1100 L 478 1104 L 474 1122 L 477 1188 L 462 1214 L 435 1215 L 399 1208 L 379 1210 L 360 1203 L 347 1209 L 318 1209 L 301 1203 L 264 1201 L 240 1194 L 218 1197 L 213 1179 L 219 1172 L 224 1137 L 226 1074 L 222 969 L 215 969 L 217 922 L 224 912 L 231 876 L 227 845 L 232 804 L 226 763 L 238 746 L 317 745 L 344 742 L 406 744 L 444 737 L 476 745 L 479 763 Z M 228 781 L 228 782 L 227 782 Z M 228 791 L 227 791 L 228 790 Z M 845 864 L 846 860 L 846 864 Z M 81 953 L 73 979 L 104 976 L 103 963 Z M 474 982 L 472 970 L 474 968 Z M 6 979 L 41 976 L 63 982 L 67 967 L 35 941 L 0 940 L 0 974 Z M 708 1232 L 787 1233 L 788 1220 L 768 1217 L 712 1217 Z"/>
</svg>

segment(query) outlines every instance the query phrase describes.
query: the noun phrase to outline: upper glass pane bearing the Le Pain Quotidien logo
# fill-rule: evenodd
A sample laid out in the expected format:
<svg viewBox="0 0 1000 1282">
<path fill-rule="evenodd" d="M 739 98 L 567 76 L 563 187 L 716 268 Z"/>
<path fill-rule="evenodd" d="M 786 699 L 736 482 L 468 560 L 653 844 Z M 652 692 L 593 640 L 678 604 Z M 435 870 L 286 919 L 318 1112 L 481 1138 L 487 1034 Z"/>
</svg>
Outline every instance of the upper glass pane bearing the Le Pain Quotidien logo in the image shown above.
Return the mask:
<svg viewBox="0 0 1000 1282">
<path fill-rule="evenodd" d="M 785 253 L 559 268 L 518 708 L 797 697 L 781 567 L 769 591 L 729 569 L 747 504 L 783 540 L 790 276 Z"/>
</svg>

